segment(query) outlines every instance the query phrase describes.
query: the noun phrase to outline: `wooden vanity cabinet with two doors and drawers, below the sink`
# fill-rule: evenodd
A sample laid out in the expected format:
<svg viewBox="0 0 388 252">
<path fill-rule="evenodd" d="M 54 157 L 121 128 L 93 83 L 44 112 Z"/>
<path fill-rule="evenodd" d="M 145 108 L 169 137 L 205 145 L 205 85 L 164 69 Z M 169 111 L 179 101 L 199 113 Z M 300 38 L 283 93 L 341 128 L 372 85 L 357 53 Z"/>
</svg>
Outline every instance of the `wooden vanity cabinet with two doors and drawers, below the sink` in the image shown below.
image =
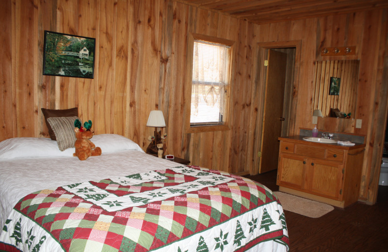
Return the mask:
<svg viewBox="0 0 388 252">
<path fill-rule="evenodd" d="M 279 190 L 345 207 L 358 200 L 364 144 L 351 147 L 279 138 Z"/>
</svg>

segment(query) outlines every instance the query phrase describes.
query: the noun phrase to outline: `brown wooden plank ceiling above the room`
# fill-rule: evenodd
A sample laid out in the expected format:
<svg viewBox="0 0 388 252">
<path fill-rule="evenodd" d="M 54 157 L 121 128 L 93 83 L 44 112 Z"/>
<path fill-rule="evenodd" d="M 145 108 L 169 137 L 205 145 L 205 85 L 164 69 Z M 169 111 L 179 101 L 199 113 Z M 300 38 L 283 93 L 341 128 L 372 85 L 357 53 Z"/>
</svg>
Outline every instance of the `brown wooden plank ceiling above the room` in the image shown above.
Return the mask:
<svg viewBox="0 0 388 252">
<path fill-rule="evenodd" d="M 177 0 L 256 24 L 388 8 L 388 0 Z"/>
</svg>

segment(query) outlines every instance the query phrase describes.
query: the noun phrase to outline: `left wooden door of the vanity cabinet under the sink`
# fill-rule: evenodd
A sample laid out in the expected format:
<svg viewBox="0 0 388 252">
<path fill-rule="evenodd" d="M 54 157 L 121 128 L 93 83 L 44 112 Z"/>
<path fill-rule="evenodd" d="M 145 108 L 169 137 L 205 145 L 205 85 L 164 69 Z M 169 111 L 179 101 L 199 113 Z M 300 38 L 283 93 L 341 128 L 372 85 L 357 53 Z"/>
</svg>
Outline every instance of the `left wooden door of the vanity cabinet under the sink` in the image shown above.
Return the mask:
<svg viewBox="0 0 388 252">
<path fill-rule="evenodd" d="M 277 172 L 277 185 L 303 189 L 305 182 L 306 158 L 280 155 Z"/>
</svg>

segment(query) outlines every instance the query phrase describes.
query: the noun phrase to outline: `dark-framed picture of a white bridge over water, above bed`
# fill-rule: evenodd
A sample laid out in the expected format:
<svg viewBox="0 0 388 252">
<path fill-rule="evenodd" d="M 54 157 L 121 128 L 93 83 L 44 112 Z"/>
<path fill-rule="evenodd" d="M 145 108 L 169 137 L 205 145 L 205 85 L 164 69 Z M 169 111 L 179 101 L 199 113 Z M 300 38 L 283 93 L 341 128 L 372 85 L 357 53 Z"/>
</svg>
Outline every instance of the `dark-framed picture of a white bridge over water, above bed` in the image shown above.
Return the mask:
<svg viewBox="0 0 388 252">
<path fill-rule="evenodd" d="M 94 78 L 96 39 L 45 31 L 43 75 Z"/>
</svg>

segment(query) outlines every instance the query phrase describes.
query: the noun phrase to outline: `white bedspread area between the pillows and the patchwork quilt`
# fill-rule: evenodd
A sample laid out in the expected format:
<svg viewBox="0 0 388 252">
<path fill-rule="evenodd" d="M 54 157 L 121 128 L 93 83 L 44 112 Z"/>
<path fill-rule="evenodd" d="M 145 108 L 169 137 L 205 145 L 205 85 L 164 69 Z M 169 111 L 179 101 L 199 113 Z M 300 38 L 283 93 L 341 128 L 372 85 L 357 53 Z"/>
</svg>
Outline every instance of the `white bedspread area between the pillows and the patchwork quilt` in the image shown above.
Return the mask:
<svg viewBox="0 0 388 252">
<path fill-rule="evenodd" d="M 135 150 L 103 153 L 84 161 L 77 157 L 0 160 L 0 226 L 4 225 L 16 203 L 34 191 L 179 165 Z M 114 169 L 111 170 L 111 167 Z"/>
</svg>

